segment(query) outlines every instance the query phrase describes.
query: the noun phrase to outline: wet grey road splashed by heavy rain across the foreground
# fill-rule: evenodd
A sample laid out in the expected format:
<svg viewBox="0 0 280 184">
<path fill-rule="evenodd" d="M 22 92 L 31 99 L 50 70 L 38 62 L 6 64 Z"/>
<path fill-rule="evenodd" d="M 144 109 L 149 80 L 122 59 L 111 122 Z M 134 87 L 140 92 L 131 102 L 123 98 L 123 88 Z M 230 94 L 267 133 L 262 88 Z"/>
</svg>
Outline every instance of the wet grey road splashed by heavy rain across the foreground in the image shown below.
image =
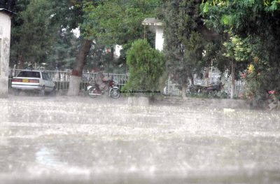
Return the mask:
<svg viewBox="0 0 280 184">
<path fill-rule="evenodd" d="M 280 113 L 0 99 L 0 183 L 280 183 Z"/>
</svg>

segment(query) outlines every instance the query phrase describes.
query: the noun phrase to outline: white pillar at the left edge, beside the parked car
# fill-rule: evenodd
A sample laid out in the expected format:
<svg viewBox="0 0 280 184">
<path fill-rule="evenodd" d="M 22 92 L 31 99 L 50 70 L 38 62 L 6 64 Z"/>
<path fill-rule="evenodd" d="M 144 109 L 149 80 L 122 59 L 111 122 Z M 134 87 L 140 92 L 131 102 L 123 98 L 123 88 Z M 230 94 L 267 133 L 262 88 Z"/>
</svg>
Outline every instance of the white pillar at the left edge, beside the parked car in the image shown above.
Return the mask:
<svg viewBox="0 0 280 184">
<path fill-rule="evenodd" d="M 8 66 L 10 59 L 10 16 L 13 13 L 0 8 L 0 97 L 8 97 Z"/>
</svg>

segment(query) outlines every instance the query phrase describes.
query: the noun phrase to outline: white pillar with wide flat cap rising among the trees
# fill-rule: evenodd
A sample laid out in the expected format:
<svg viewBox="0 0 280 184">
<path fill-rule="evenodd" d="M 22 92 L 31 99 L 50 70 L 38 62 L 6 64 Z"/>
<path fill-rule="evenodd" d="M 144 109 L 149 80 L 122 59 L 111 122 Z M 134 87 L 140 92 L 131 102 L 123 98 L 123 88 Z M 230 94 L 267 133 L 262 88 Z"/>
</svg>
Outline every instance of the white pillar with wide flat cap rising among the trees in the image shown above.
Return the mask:
<svg viewBox="0 0 280 184">
<path fill-rule="evenodd" d="M 163 37 L 163 23 L 156 18 L 146 18 L 142 24 L 147 25 L 155 33 L 155 48 L 162 51 L 165 41 Z"/>
</svg>

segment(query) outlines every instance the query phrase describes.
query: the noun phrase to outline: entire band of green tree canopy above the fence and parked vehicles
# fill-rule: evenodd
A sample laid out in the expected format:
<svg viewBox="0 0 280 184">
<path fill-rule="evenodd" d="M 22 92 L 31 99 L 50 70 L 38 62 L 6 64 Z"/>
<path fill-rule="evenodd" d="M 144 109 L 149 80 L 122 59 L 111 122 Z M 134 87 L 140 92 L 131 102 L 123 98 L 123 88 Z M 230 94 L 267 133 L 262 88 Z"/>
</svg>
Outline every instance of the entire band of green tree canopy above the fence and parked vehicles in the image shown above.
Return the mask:
<svg viewBox="0 0 280 184">
<path fill-rule="evenodd" d="M 126 64 L 134 41 L 146 36 L 154 44 L 141 23 L 157 17 L 164 22 L 167 71 L 183 87 L 203 67 L 225 71 L 233 61 L 236 73 L 251 67 L 247 80 L 260 91 L 280 88 L 279 0 L 6 0 L 0 6 L 16 13 L 11 65 L 46 62 L 80 76 L 84 66 Z M 118 61 L 104 52 L 116 44 L 123 46 Z"/>
</svg>

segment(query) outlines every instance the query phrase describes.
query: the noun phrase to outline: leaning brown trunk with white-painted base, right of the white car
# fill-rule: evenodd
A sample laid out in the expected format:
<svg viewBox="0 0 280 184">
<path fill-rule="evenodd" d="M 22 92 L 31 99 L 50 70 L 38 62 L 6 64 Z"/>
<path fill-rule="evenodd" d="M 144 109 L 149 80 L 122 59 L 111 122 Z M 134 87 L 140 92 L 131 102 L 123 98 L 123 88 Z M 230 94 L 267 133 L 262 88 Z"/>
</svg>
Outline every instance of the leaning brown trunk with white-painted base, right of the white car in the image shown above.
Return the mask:
<svg viewBox="0 0 280 184">
<path fill-rule="evenodd" d="M 83 66 L 85 66 L 85 59 L 90 52 L 92 41 L 83 39 L 80 50 L 76 57 L 76 62 L 73 66 L 73 71 L 70 77 L 68 96 L 77 96 L 80 92 L 80 80 L 83 75 Z"/>
</svg>

